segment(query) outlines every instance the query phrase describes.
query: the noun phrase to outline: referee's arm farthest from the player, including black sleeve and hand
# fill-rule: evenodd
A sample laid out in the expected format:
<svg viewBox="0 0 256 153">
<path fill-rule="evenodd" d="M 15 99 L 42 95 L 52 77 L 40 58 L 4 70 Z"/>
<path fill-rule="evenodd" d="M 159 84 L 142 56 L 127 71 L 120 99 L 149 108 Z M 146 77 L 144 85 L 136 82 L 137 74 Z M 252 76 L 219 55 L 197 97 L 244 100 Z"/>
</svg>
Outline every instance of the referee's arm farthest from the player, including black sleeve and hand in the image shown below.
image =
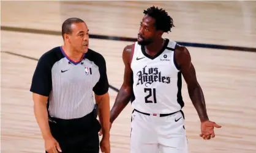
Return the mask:
<svg viewBox="0 0 256 153">
<path fill-rule="evenodd" d="M 51 67 L 47 55 L 43 55 L 37 63 L 30 91 L 34 101 L 34 115 L 45 140 L 45 150 L 49 153 L 57 153 L 56 148 L 60 152 L 61 148 L 51 135 L 47 112 L 47 101 L 51 91 Z"/>
</svg>

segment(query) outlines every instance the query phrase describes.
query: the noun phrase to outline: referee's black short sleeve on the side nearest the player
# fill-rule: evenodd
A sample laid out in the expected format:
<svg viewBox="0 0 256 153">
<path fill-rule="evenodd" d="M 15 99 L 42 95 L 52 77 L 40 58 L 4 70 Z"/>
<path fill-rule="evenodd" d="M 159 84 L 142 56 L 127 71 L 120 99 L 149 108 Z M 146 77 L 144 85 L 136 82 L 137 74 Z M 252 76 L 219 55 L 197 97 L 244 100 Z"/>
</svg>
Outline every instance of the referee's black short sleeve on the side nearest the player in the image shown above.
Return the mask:
<svg viewBox="0 0 256 153">
<path fill-rule="evenodd" d="M 102 55 L 99 55 L 97 57 L 98 60 L 98 66 L 99 66 L 99 72 L 100 72 L 100 79 L 97 82 L 97 84 L 94 86 L 93 91 L 97 95 L 102 95 L 108 92 L 108 77 L 107 77 L 107 68 L 106 68 L 106 62 Z"/>
</svg>

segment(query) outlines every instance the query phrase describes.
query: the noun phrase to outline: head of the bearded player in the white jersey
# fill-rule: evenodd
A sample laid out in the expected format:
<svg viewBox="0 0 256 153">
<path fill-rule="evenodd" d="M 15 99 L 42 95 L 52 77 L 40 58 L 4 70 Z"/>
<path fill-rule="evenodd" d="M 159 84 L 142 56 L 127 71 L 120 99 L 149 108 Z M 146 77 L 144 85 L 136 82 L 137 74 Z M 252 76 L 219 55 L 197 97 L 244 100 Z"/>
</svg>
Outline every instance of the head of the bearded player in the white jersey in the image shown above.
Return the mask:
<svg viewBox="0 0 256 153">
<path fill-rule="evenodd" d="M 140 23 L 138 44 L 150 44 L 154 40 L 162 38 L 164 32 L 171 32 L 171 27 L 174 27 L 173 19 L 163 9 L 152 6 L 144 10 L 143 13 L 145 16 Z"/>
</svg>

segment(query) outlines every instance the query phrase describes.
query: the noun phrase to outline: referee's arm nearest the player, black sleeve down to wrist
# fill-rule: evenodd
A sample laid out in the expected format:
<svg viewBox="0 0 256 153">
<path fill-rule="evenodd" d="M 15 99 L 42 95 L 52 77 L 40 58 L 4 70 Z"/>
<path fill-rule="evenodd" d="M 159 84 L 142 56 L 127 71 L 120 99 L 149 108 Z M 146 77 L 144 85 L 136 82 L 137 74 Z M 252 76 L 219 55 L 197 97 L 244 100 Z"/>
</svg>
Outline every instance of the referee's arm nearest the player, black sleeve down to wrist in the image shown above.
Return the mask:
<svg viewBox="0 0 256 153">
<path fill-rule="evenodd" d="M 93 88 L 96 104 L 99 108 L 99 120 L 102 126 L 102 138 L 110 137 L 110 97 L 108 94 L 108 77 L 104 57 L 97 58 L 99 61 L 100 79 Z"/>
</svg>

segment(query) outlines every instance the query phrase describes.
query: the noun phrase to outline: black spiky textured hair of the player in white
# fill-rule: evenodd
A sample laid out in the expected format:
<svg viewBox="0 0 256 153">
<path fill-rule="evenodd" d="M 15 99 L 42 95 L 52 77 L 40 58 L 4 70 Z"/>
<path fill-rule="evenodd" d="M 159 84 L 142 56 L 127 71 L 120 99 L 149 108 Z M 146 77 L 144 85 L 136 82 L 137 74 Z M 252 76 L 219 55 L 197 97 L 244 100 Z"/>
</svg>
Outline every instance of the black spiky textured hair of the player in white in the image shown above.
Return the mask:
<svg viewBox="0 0 256 153">
<path fill-rule="evenodd" d="M 164 32 L 171 32 L 171 28 L 175 27 L 173 24 L 173 19 L 168 15 L 167 12 L 158 7 L 152 6 L 147 10 L 144 10 L 145 15 L 149 15 L 156 20 L 155 26 L 156 30 L 163 30 Z"/>
</svg>

